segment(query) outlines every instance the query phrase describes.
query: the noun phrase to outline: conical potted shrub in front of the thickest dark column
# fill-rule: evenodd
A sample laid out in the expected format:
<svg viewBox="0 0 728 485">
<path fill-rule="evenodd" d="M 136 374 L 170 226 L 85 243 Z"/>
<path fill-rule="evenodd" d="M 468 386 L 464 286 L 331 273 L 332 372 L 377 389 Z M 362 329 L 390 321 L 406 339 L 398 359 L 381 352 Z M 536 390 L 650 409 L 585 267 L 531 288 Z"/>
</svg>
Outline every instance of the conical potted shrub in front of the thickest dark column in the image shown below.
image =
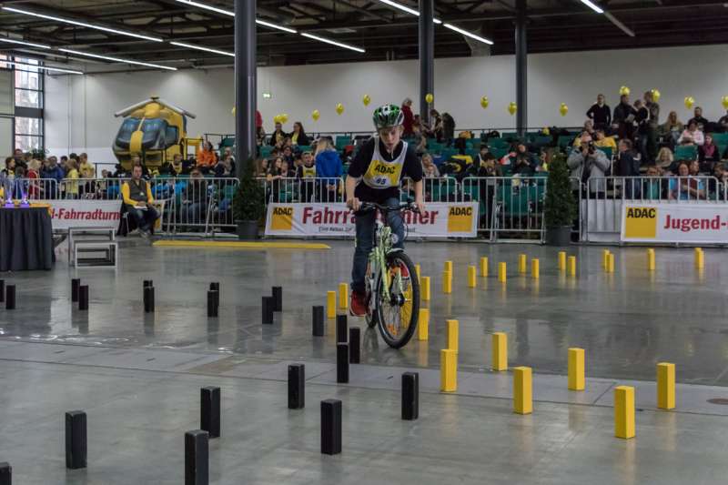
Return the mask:
<svg viewBox="0 0 728 485">
<path fill-rule="evenodd" d="M 254 174 L 254 163 L 250 159 L 233 197 L 233 218 L 240 239 L 258 238 L 260 221 L 266 215 L 266 192 Z"/>
</svg>

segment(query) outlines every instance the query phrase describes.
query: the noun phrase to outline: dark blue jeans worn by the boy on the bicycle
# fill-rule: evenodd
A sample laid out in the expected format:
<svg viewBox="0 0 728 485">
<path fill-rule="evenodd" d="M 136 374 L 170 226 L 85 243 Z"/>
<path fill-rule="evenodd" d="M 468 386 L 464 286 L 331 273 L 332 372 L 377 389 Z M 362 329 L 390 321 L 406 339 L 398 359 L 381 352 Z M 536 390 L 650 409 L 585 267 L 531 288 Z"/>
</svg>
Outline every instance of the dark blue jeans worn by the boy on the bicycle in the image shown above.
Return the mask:
<svg viewBox="0 0 728 485">
<path fill-rule="evenodd" d="M 395 197 L 388 198 L 383 206 L 399 207 L 399 199 Z M 369 253 L 374 245 L 374 227 L 377 212 L 368 212 L 366 214 L 358 214 L 356 219 L 357 239 L 354 248 L 354 265 L 351 268 L 351 290 L 364 293 L 366 285 L 364 278 L 367 276 L 367 263 L 369 262 Z M 402 214 L 399 210 L 393 210 L 387 213 L 387 224 L 392 228 L 392 232 L 397 235 L 397 243 L 395 248 L 404 248 L 404 223 L 402 222 Z"/>
</svg>

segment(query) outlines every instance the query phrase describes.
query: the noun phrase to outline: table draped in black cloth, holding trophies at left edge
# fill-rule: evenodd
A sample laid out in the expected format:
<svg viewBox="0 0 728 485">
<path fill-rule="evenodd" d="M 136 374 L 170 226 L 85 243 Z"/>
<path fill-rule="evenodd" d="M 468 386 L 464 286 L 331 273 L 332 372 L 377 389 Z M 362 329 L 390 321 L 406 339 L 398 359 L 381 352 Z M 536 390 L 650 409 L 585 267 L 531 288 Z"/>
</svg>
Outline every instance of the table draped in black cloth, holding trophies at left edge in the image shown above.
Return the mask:
<svg viewBox="0 0 728 485">
<path fill-rule="evenodd" d="M 54 259 L 47 208 L 0 208 L 0 271 L 51 269 Z"/>
</svg>

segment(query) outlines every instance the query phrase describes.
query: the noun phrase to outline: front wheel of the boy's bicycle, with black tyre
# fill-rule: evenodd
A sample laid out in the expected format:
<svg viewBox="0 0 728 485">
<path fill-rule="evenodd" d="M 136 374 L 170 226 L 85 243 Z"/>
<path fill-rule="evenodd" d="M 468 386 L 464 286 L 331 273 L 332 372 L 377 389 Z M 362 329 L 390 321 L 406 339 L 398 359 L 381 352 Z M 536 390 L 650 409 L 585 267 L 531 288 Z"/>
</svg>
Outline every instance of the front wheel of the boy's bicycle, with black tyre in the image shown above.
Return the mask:
<svg viewBox="0 0 728 485">
<path fill-rule="evenodd" d="M 387 255 L 387 281 L 389 296 L 385 297 L 385 278 L 379 275 L 377 297 L 377 324 L 387 345 L 399 349 L 407 344 L 417 328 L 420 315 L 420 282 L 415 265 L 401 251 Z"/>
</svg>

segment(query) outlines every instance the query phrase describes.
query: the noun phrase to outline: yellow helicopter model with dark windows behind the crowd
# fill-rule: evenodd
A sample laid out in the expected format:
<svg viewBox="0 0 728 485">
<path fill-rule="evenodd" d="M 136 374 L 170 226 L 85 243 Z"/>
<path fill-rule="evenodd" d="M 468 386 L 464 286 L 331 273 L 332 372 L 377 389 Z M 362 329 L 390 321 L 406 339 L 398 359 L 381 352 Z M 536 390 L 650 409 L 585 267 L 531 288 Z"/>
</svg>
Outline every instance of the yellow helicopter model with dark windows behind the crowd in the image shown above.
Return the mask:
<svg viewBox="0 0 728 485">
<path fill-rule="evenodd" d="M 187 147 L 195 147 L 197 152 L 202 144 L 202 138 L 187 137 L 187 117 L 197 116 L 157 96 L 128 106 L 114 116 L 124 116 L 113 150 L 125 169 L 131 168 L 131 158 L 136 155 L 148 168 L 154 168 L 171 162 L 177 154 L 187 157 Z"/>
</svg>

